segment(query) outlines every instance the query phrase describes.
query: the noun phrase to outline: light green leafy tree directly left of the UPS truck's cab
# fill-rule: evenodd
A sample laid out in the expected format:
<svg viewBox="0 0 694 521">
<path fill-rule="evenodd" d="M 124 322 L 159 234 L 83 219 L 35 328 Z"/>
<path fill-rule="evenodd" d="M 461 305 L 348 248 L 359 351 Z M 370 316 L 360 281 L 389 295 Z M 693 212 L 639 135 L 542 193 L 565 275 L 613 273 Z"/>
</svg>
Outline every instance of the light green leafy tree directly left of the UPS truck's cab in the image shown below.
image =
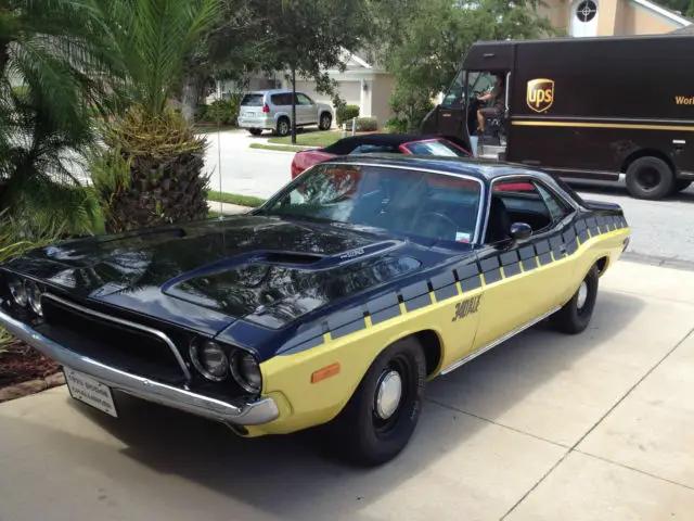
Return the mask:
<svg viewBox="0 0 694 521">
<path fill-rule="evenodd" d="M 455 0 L 374 1 L 378 28 L 374 53 L 396 77 L 391 106 L 408 119 L 409 130 L 419 128 L 426 100 L 448 87 L 475 41 L 553 34 L 550 22 L 535 13 L 536 5 L 536 1 L 503 0 L 474 4 Z"/>
</svg>

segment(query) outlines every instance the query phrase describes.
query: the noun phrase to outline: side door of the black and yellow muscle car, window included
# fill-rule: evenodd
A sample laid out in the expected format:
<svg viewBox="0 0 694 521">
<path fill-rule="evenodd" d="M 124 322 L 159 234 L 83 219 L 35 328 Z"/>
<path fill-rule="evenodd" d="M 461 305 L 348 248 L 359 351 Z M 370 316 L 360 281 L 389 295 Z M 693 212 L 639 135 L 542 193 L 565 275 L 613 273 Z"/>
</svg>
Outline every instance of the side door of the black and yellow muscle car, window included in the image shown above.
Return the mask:
<svg viewBox="0 0 694 521">
<path fill-rule="evenodd" d="M 485 285 L 475 351 L 536 323 L 575 291 L 576 263 L 567 257 L 578 249 L 576 208 L 529 177 L 494 179 L 489 198 L 477 254 Z M 512 240 L 514 223 L 528 224 L 531 236 Z"/>
</svg>

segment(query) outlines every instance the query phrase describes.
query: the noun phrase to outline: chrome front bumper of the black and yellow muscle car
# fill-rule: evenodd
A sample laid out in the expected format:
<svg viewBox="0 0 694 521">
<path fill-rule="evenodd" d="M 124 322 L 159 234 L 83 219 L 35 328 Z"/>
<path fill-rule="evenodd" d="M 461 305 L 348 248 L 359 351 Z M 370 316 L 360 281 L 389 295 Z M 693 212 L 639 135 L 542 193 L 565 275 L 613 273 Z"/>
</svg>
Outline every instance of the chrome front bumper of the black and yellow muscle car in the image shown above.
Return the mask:
<svg viewBox="0 0 694 521">
<path fill-rule="evenodd" d="M 260 425 L 269 423 L 280 416 L 280 410 L 272 398 L 262 398 L 239 407 L 106 366 L 92 358 L 73 353 L 2 310 L 0 310 L 0 326 L 59 364 L 89 374 L 110 387 L 147 402 L 236 425 Z"/>
</svg>

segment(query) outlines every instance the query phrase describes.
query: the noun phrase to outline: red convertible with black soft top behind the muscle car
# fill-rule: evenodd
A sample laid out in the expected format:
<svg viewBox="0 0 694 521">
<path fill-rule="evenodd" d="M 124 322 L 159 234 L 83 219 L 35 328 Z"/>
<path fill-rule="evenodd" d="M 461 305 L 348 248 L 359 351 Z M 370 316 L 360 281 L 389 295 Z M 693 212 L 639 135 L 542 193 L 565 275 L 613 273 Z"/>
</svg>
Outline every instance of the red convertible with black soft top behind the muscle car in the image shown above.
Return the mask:
<svg viewBox="0 0 694 521">
<path fill-rule="evenodd" d="M 292 179 L 308 167 L 338 155 L 383 152 L 390 154 L 472 157 L 465 149 L 441 137 L 406 136 L 401 134 L 367 134 L 343 138 L 322 149 L 301 150 L 292 161 Z"/>
</svg>

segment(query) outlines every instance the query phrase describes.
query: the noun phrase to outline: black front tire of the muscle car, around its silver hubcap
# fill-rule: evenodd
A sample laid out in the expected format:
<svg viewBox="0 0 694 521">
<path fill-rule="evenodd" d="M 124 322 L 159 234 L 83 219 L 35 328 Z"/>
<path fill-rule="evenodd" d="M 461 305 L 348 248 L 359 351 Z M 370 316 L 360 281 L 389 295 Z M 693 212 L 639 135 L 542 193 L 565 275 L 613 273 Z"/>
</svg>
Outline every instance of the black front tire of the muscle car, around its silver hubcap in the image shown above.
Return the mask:
<svg viewBox="0 0 694 521">
<path fill-rule="evenodd" d="M 390 371 L 401 378 L 401 396 L 387 419 L 378 416 L 376 396 Z M 374 467 L 395 458 L 409 443 L 424 405 L 426 360 L 420 342 L 395 342 L 373 361 L 343 411 L 325 434 L 331 452 L 340 459 Z"/>
</svg>

